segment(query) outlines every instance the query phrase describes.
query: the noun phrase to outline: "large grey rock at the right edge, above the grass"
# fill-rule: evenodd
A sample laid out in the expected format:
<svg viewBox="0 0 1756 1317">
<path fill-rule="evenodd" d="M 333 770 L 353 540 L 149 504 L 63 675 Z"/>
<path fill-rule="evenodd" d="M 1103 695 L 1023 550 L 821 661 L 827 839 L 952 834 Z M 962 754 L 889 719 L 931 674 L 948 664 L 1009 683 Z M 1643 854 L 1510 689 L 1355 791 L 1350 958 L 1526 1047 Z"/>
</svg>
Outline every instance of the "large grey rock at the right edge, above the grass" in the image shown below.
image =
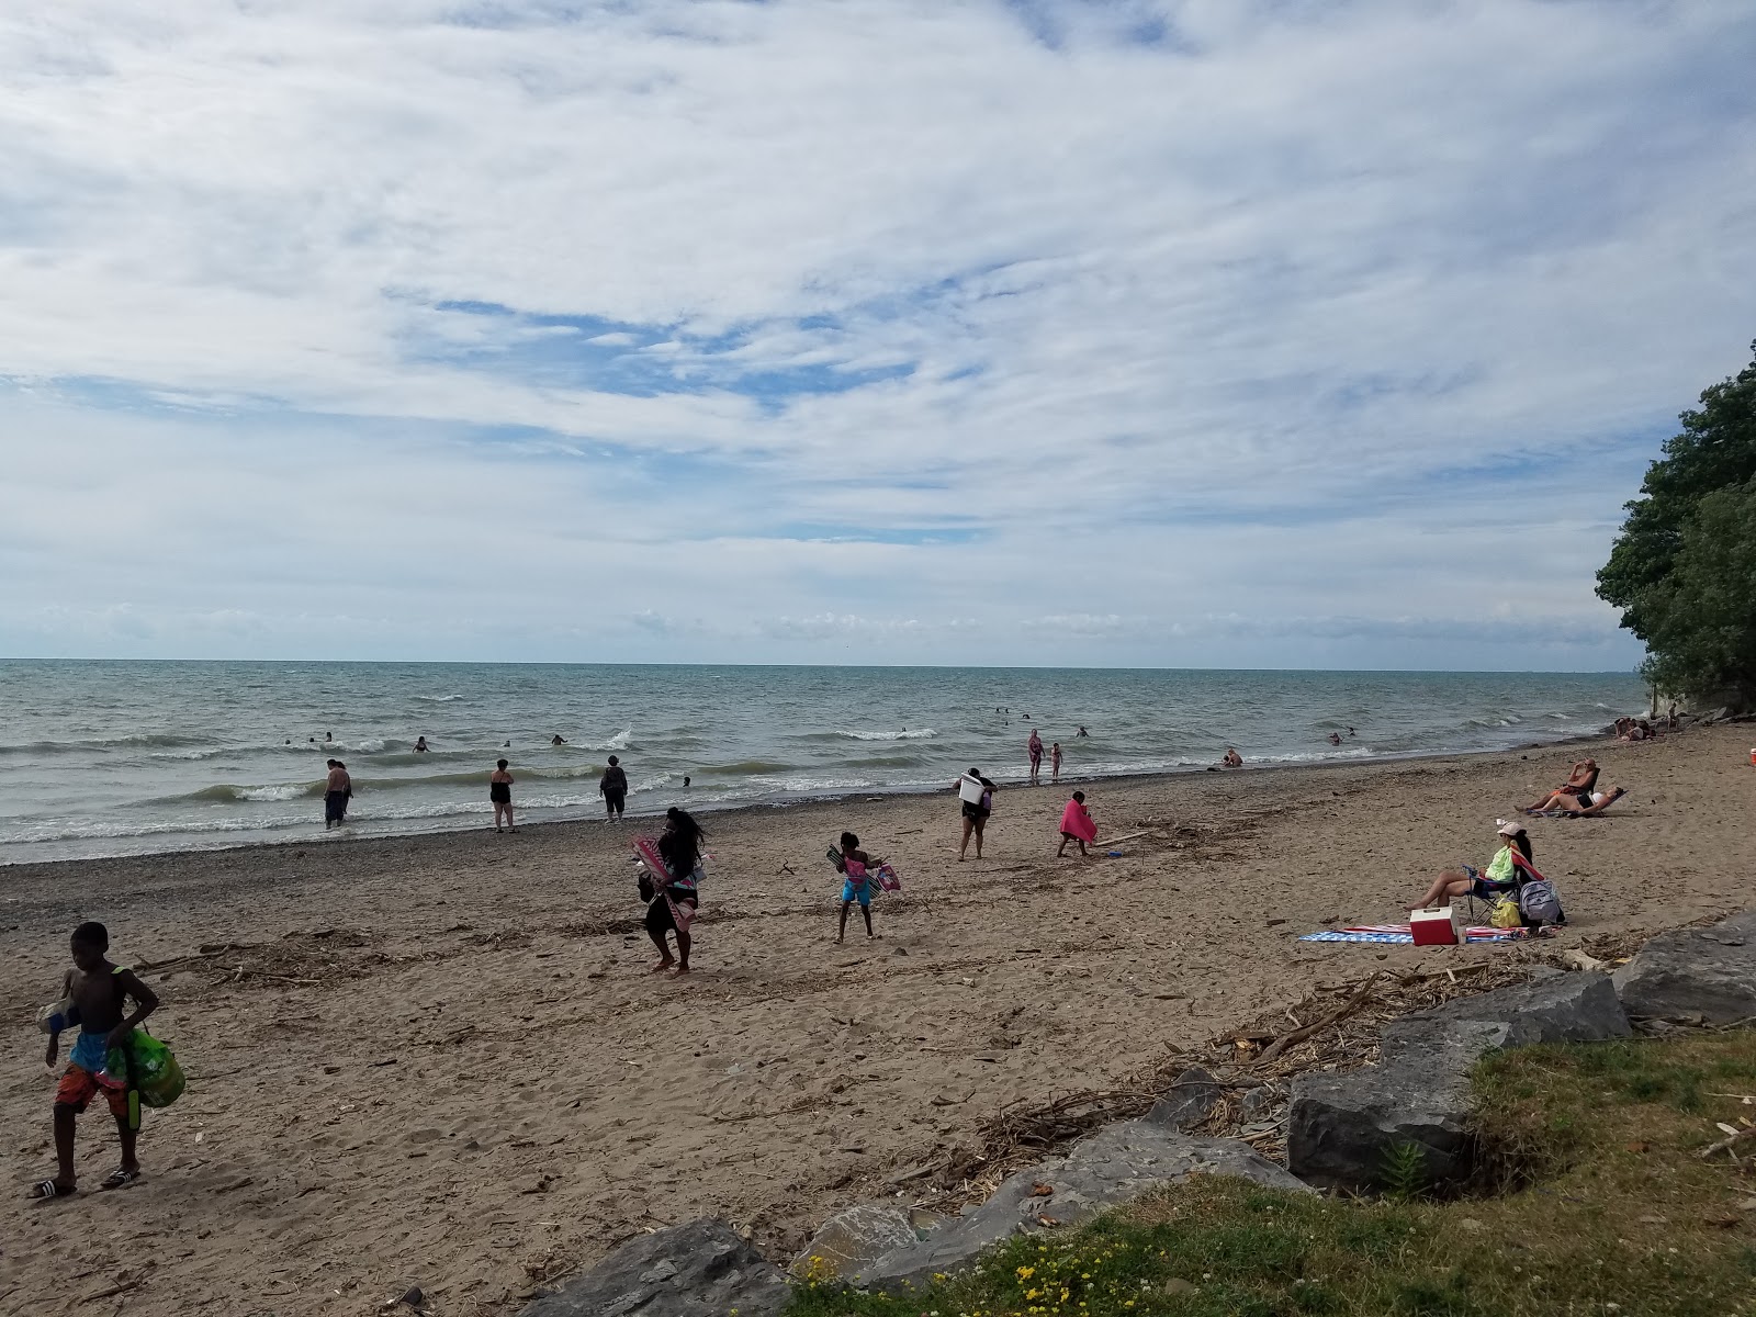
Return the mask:
<svg viewBox="0 0 1756 1317">
<path fill-rule="evenodd" d="M 1616 971 L 1630 1015 L 1731 1024 L 1756 1015 L 1756 910 L 1710 929 L 1661 932 Z"/>
</svg>

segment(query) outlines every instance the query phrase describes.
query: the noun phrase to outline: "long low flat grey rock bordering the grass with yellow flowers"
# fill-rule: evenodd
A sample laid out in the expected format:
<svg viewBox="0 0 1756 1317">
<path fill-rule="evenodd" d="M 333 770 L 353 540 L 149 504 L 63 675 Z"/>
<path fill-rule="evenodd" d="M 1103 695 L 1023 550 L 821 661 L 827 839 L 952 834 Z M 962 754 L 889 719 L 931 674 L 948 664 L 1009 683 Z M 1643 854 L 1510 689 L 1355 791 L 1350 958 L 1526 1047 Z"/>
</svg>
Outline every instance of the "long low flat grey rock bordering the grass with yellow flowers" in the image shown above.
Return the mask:
<svg viewBox="0 0 1756 1317">
<path fill-rule="evenodd" d="M 1308 1192 L 1282 1168 L 1256 1155 L 1249 1143 L 1182 1134 L 1147 1119 L 1122 1120 L 1073 1145 L 1066 1157 L 1018 1171 L 969 1215 L 846 1278 L 892 1291 L 918 1287 L 936 1271 L 952 1271 L 1020 1231 L 1078 1226 L 1148 1189 L 1203 1173 Z"/>
</svg>

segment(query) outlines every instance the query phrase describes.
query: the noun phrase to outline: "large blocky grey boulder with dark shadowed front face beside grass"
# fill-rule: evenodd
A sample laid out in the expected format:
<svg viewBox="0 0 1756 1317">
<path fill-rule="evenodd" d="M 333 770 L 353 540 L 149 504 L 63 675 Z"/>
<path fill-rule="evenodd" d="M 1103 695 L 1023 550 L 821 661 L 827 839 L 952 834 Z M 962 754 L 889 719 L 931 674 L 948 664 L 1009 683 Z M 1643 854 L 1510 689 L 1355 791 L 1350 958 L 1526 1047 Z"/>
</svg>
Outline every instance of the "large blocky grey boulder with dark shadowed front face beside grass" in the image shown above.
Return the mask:
<svg viewBox="0 0 1756 1317">
<path fill-rule="evenodd" d="M 1287 1168 L 1324 1189 L 1380 1189 L 1389 1157 L 1419 1148 L 1429 1184 L 1472 1168 L 1470 1071 L 1526 1043 L 1626 1038 L 1605 975 L 1556 975 L 1393 1020 L 1377 1066 L 1292 1080 Z"/>
</svg>

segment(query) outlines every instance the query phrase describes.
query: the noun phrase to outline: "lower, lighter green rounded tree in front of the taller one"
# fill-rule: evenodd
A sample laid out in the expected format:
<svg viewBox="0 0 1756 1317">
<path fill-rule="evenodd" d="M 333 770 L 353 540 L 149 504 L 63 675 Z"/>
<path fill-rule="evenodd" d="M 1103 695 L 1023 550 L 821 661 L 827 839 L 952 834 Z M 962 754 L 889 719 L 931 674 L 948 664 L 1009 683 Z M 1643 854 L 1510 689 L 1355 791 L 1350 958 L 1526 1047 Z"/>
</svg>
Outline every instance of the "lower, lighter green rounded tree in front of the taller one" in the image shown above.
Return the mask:
<svg viewBox="0 0 1756 1317">
<path fill-rule="evenodd" d="M 1709 493 L 1665 579 L 1640 592 L 1645 678 L 1659 690 L 1749 704 L 1756 694 L 1756 479 Z"/>
</svg>

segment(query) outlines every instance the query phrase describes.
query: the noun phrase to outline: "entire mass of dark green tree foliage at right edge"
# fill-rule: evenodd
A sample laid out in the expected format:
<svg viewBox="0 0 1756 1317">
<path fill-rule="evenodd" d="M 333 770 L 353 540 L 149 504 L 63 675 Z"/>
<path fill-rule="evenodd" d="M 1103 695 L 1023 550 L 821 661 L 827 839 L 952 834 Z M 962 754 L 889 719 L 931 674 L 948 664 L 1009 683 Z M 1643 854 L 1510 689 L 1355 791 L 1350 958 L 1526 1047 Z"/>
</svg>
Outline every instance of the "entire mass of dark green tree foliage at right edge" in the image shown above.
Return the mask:
<svg viewBox="0 0 1756 1317">
<path fill-rule="evenodd" d="M 1751 355 L 1756 358 L 1756 342 Z M 1647 469 L 1640 497 L 1628 504 L 1623 532 L 1598 572 L 1598 597 L 1623 609 L 1623 625 L 1647 643 L 1645 671 L 1663 690 L 1693 697 L 1735 692 L 1752 702 L 1756 592 L 1749 588 L 1747 530 L 1737 529 L 1747 529 L 1740 509 L 1756 481 L 1756 360 L 1707 388 L 1702 406 L 1680 420 L 1682 432 L 1665 441 L 1665 457 Z M 1719 493 L 1726 499 L 1714 502 L 1716 530 L 1691 532 L 1705 500 Z M 1733 539 L 1710 544 L 1712 534 Z M 1742 587 L 1707 579 L 1710 569 L 1735 574 L 1738 562 L 1745 564 Z"/>
</svg>

